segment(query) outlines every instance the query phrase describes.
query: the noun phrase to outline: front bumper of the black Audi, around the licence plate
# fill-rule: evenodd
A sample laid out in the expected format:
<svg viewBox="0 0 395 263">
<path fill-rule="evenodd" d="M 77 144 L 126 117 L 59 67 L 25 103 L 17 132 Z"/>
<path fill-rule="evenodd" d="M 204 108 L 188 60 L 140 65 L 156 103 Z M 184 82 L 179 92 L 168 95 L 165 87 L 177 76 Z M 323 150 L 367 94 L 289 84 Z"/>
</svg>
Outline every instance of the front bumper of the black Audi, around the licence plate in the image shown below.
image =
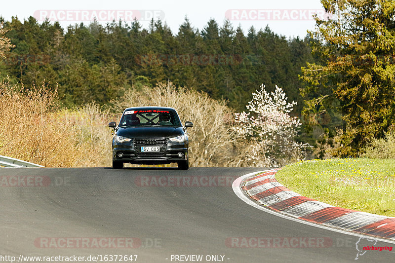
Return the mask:
<svg viewBox="0 0 395 263">
<path fill-rule="evenodd" d="M 135 145 L 134 142 L 118 143 L 114 138 L 113 160 L 132 164 L 169 164 L 188 160 L 188 141 L 176 143 L 166 139 L 165 145 Z M 141 152 L 139 149 L 142 146 L 159 146 L 160 152 Z"/>
</svg>

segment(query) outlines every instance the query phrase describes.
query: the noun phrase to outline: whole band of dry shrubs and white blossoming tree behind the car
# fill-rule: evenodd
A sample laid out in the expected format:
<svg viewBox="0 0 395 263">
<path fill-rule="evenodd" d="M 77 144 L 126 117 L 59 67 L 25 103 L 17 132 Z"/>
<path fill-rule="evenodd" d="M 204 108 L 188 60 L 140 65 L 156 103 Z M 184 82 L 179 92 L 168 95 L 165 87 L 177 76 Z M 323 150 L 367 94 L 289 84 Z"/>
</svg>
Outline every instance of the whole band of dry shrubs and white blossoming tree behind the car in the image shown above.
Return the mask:
<svg viewBox="0 0 395 263">
<path fill-rule="evenodd" d="M 303 145 L 294 141 L 299 121 L 288 115 L 292 104 L 286 104 L 280 89 L 272 103 L 264 93 L 263 104 L 253 108 L 251 102 L 250 113 L 237 113 L 236 119 L 225 101 L 170 82 L 123 92 L 107 110 L 94 103 L 69 110 L 59 106 L 56 89 L 1 82 L 0 154 L 48 167 L 110 166 L 112 130 L 107 124 L 118 121 L 128 107 L 167 106 L 182 121 L 194 122 L 188 130 L 191 166 L 283 165 L 303 157 Z"/>
</svg>

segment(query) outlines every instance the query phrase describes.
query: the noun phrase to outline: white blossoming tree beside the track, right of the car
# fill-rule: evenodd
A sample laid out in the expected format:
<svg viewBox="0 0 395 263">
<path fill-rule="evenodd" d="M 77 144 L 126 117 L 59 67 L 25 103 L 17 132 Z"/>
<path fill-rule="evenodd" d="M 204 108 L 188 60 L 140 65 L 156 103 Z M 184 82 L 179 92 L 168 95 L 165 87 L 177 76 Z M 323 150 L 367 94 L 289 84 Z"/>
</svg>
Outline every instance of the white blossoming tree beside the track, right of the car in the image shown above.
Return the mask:
<svg viewBox="0 0 395 263">
<path fill-rule="evenodd" d="M 248 145 L 239 146 L 243 166 L 277 166 L 303 159 L 311 146 L 295 141 L 301 125 L 291 117 L 296 102 L 288 103 L 284 91 L 277 87 L 269 94 L 265 85 L 252 93 L 248 113 L 236 113 L 236 134 Z"/>
</svg>

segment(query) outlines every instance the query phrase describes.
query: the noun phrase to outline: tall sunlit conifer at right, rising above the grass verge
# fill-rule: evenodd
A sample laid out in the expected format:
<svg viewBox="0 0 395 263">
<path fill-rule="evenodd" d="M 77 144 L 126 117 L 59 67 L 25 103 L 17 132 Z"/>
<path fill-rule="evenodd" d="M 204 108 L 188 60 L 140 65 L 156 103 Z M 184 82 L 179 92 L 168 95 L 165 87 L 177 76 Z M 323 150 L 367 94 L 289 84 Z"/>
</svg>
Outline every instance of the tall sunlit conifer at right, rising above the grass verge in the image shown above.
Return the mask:
<svg viewBox="0 0 395 263">
<path fill-rule="evenodd" d="M 321 63 L 303 68 L 305 113 L 314 124 L 337 99 L 343 115 L 338 156 L 358 156 L 395 123 L 395 2 L 322 0 L 335 14 L 316 19 L 313 52 Z M 324 44 L 321 44 L 324 43 Z"/>
</svg>

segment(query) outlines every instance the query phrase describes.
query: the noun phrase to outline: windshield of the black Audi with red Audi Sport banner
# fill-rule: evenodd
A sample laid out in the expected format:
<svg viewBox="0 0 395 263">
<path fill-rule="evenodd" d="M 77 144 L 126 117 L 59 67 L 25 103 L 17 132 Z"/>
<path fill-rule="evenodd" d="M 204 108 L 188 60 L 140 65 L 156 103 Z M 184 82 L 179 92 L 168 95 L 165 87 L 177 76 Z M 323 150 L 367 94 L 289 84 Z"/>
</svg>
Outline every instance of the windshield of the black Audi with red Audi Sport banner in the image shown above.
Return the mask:
<svg viewBox="0 0 395 263">
<path fill-rule="evenodd" d="M 130 126 L 177 126 L 181 127 L 176 112 L 167 110 L 126 111 L 119 122 L 119 127 Z"/>
</svg>

